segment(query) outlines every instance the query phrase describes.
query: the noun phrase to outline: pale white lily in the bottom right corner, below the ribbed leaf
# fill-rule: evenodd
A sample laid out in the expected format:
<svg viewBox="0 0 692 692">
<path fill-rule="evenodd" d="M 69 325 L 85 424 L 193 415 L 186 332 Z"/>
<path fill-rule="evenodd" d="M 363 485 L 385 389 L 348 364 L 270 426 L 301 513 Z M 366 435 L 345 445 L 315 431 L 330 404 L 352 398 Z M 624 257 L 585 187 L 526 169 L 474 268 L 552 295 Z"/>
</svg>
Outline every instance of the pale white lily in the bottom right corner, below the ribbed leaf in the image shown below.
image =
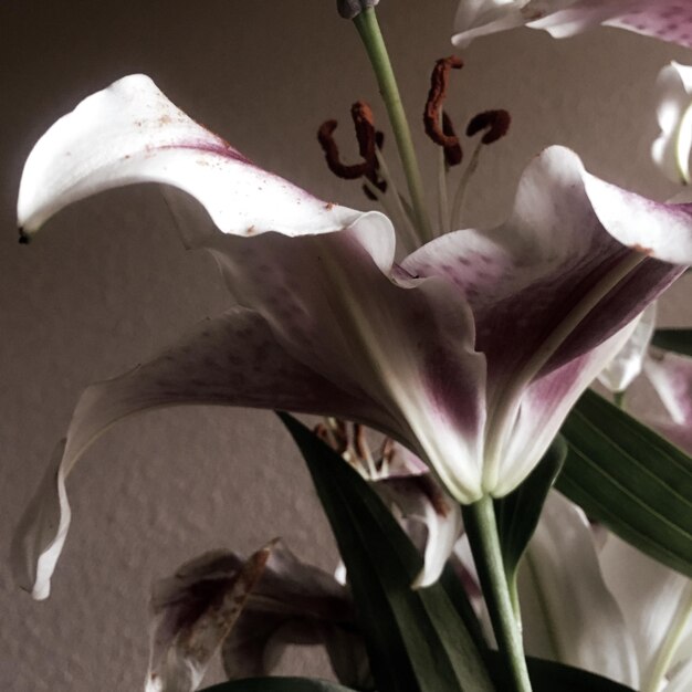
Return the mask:
<svg viewBox="0 0 692 692">
<path fill-rule="evenodd" d="M 526 652 L 630 685 L 692 685 L 692 581 L 552 492 L 528 544 L 518 591 Z"/>
</svg>

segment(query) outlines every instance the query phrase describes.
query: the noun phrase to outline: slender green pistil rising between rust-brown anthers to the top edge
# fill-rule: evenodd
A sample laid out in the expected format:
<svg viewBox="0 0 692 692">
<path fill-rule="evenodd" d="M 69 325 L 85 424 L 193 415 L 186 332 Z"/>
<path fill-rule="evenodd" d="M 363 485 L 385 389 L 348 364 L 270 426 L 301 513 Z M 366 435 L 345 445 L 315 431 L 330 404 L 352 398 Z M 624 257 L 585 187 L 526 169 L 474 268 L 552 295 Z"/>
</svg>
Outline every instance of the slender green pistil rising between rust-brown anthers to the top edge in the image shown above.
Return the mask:
<svg viewBox="0 0 692 692">
<path fill-rule="evenodd" d="M 423 182 L 416 158 L 416 150 L 413 149 L 411 130 L 406 119 L 403 104 L 399 95 L 399 87 L 397 86 L 397 80 L 391 67 L 391 62 L 389 61 L 389 55 L 387 54 L 387 46 L 385 45 L 385 40 L 382 39 L 382 33 L 377 22 L 375 8 L 368 8 L 360 12 L 354 19 L 354 23 L 356 24 L 356 29 L 360 34 L 365 50 L 370 59 L 370 64 L 377 77 L 379 92 L 385 102 L 387 114 L 389 115 L 389 122 L 391 123 L 391 129 L 397 140 L 397 148 L 399 149 L 399 156 L 406 176 L 406 182 L 411 196 L 416 226 L 418 227 L 423 242 L 431 240 L 432 227 L 426 208 Z"/>
</svg>

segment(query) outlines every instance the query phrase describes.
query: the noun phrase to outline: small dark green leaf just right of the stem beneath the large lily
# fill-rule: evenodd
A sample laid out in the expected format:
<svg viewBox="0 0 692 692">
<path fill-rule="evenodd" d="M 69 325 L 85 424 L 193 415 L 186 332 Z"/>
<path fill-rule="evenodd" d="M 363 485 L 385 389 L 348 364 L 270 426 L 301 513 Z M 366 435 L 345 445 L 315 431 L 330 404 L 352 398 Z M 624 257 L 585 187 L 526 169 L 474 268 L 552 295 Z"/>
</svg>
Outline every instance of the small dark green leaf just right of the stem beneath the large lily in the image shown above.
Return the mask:
<svg viewBox="0 0 692 692">
<path fill-rule="evenodd" d="M 541 463 L 513 493 L 495 500 L 500 547 L 507 581 L 511 585 L 516 579 L 518 564 L 536 531 L 545 499 L 566 457 L 567 444 L 558 438 L 545 453 Z"/>
</svg>

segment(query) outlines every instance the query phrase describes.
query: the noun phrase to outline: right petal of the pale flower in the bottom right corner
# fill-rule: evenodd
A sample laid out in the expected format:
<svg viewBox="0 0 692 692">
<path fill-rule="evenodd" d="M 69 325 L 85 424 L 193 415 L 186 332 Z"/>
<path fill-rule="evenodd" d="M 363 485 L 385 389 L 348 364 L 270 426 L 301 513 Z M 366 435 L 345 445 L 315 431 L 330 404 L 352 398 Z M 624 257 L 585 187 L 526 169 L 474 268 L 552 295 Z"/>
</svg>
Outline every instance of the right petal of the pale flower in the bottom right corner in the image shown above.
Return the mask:
<svg viewBox="0 0 692 692">
<path fill-rule="evenodd" d="M 692 581 L 614 535 L 599 562 L 633 639 L 640 684 L 653 689 L 652 680 L 660 681 L 675 650 L 692 632 Z"/>
</svg>

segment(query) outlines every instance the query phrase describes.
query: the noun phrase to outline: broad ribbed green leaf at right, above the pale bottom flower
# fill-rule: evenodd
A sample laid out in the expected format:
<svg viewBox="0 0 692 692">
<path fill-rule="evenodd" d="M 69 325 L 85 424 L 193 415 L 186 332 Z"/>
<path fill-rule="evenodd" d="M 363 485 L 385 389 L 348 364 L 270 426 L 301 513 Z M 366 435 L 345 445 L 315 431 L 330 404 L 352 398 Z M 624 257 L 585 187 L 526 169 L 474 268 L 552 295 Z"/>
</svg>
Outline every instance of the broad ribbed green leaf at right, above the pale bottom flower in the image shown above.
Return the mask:
<svg viewBox="0 0 692 692">
<path fill-rule="evenodd" d="M 562 433 L 569 451 L 556 487 L 628 543 L 692 577 L 692 459 L 593 391 Z"/>
</svg>

